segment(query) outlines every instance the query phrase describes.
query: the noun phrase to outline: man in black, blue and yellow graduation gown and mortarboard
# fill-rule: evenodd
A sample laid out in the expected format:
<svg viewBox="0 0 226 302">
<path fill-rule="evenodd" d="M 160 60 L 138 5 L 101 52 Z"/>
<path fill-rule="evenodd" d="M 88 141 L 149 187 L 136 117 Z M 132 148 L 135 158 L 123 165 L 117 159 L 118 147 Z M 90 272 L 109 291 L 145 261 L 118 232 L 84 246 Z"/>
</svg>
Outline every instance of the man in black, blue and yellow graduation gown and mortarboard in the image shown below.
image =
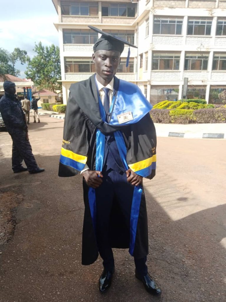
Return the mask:
<svg viewBox="0 0 226 302">
<path fill-rule="evenodd" d="M 99 290 L 114 273 L 112 248 L 129 248 L 135 276 L 152 294 L 161 290 L 149 275 L 148 225 L 142 178 L 153 178 L 156 133 L 151 104 L 140 89 L 115 74 L 128 42 L 90 27 L 102 36 L 92 56 L 96 74 L 72 84 L 65 114 L 59 176 L 84 176 L 82 264 L 103 259 Z"/>
</svg>

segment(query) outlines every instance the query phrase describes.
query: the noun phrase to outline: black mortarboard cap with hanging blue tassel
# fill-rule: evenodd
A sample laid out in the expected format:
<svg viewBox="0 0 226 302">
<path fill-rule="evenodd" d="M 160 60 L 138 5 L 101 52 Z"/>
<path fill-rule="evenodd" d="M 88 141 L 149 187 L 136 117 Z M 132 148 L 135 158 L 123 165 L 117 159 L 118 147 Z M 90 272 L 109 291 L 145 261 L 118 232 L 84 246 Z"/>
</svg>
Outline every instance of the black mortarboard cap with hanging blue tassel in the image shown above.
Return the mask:
<svg viewBox="0 0 226 302">
<path fill-rule="evenodd" d="M 88 25 L 88 27 L 91 28 L 93 31 L 96 31 L 97 33 L 101 34 L 101 37 L 94 43 L 93 46 L 94 53 L 97 50 L 117 50 L 120 53 L 122 53 L 124 50 L 124 44 L 137 48 L 137 46 L 119 37 L 113 36 L 112 34 L 106 33 L 105 31 L 101 31 L 100 29 L 94 26 Z M 128 51 L 128 56 L 127 56 L 128 63 L 129 63 L 129 54 L 130 54 L 130 50 Z"/>
</svg>

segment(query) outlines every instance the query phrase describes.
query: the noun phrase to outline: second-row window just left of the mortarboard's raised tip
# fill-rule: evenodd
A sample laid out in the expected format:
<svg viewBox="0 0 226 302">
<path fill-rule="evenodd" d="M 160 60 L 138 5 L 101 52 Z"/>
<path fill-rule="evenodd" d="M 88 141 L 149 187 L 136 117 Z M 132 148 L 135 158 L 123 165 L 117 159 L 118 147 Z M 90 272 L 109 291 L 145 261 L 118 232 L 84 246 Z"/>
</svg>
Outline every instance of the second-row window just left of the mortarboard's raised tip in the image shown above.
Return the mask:
<svg viewBox="0 0 226 302">
<path fill-rule="evenodd" d="M 89 29 L 63 29 L 64 44 L 94 44 L 98 34 Z"/>
</svg>

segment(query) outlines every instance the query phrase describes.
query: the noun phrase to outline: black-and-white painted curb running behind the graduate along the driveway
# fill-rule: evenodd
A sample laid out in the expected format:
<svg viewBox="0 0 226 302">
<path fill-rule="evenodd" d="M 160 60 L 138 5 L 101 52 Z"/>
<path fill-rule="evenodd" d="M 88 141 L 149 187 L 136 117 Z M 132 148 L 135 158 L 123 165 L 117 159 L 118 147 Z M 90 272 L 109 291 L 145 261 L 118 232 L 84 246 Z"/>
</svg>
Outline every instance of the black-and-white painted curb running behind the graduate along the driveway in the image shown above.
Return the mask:
<svg viewBox="0 0 226 302">
<path fill-rule="evenodd" d="M 64 116 L 56 114 L 50 115 L 50 117 L 59 118 L 64 120 Z M 157 137 L 183 137 L 183 138 L 211 138 L 211 139 L 226 139 L 226 133 L 203 133 L 203 132 L 161 132 L 156 131 Z"/>
</svg>

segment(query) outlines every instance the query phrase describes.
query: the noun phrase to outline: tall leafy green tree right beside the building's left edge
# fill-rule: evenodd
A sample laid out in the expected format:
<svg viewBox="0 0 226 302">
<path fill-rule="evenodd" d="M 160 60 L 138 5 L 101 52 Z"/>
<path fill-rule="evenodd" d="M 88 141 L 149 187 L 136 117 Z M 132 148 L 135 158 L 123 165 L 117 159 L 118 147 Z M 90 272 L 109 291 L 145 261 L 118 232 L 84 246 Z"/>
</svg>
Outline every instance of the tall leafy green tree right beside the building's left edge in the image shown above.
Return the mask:
<svg viewBox="0 0 226 302">
<path fill-rule="evenodd" d="M 61 88 L 57 82 L 61 78 L 60 50 L 52 44 L 44 47 L 41 42 L 35 43 L 34 51 L 37 53 L 27 64 L 25 74 L 32 79 L 40 89 L 56 92 Z"/>
</svg>

